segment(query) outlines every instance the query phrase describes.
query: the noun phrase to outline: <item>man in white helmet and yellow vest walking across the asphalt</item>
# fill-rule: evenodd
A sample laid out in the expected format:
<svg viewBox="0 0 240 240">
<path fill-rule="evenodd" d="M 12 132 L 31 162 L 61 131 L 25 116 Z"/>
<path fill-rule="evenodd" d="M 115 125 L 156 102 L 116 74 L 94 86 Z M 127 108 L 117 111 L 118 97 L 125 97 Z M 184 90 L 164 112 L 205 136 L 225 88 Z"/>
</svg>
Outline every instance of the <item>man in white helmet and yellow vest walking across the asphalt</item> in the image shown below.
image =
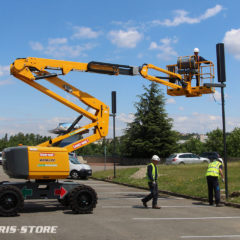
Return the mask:
<svg viewBox="0 0 240 240">
<path fill-rule="evenodd" d="M 147 195 L 145 198 L 142 199 L 143 206 L 147 208 L 147 202 L 152 199 L 152 208 L 153 209 L 160 209 L 157 205 L 158 200 L 158 184 L 157 184 L 157 178 L 158 178 L 158 168 L 157 164 L 160 162 L 160 158 L 157 155 L 152 156 L 152 162 L 148 164 L 147 167 L 147 180 L 148 180 L 148 186 L 150 188 L 151 193 Z"/>
</svg>

